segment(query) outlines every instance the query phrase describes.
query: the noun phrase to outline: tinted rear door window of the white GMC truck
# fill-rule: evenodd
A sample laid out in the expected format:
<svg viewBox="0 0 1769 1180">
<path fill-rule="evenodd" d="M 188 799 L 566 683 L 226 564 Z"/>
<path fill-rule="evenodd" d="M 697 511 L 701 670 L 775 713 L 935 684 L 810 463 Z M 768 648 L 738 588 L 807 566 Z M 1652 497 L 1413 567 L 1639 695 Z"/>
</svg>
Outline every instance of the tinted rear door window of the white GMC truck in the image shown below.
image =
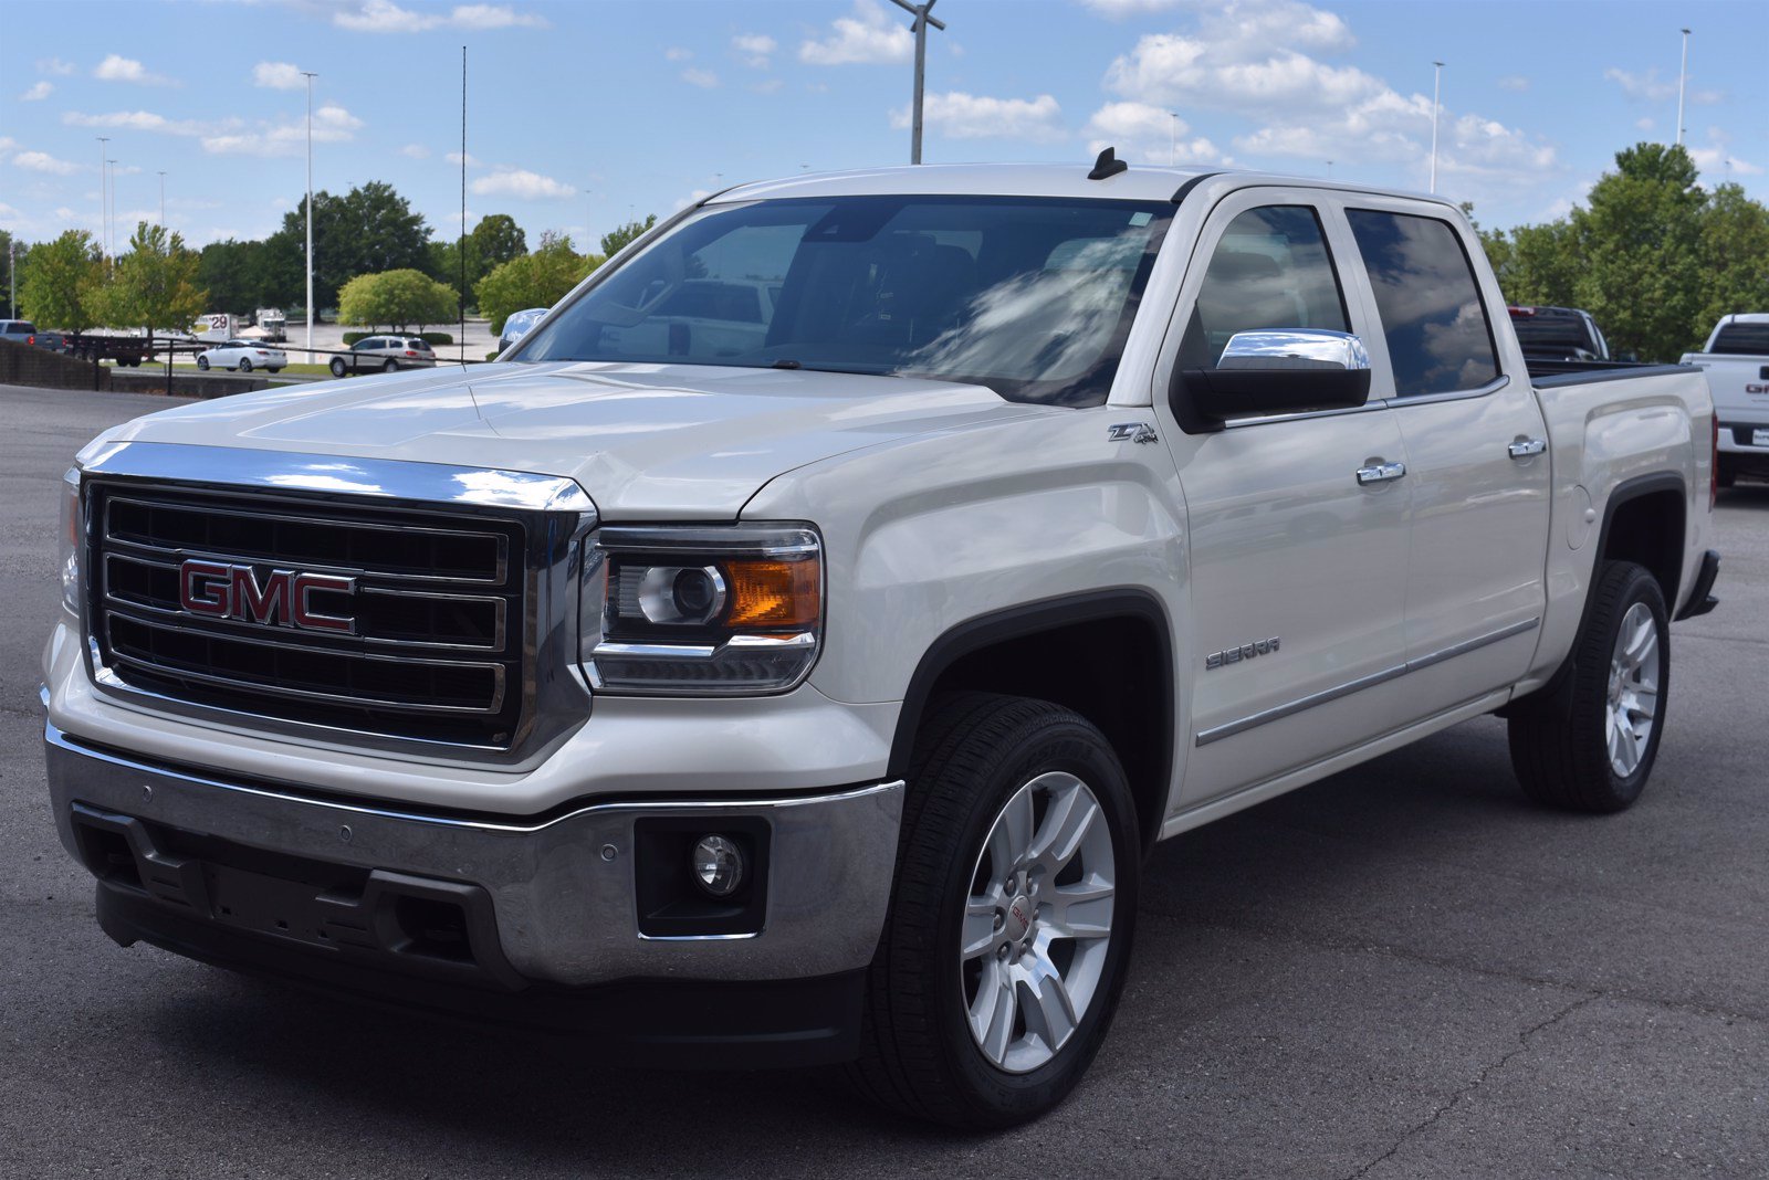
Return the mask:
<svg viewBox="0 0 1769 1180">
<path fill-rule="evenodd" d="M 1401 397 L 1479 389 L 1498 376 L 1474 267 L 1445 221 L 1348 208 L 1376 293 Z"/>
</svg>

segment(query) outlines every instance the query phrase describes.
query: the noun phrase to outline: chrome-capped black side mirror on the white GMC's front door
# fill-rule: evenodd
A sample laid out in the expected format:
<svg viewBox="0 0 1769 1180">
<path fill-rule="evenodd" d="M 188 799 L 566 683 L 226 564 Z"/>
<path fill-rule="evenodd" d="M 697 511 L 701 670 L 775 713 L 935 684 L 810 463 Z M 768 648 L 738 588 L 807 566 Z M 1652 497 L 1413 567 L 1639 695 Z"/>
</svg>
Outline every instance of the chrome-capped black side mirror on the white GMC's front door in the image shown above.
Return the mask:
<svg viewBox="0 0 1769 1180">
<path fill-rule="evenodd" d="M 1237 332 L 1215 369 L 1175 369 L 1168 399 L 1187 435 L 1238 417 L 1355 410 L 1369 401 L 1369 352 L 1350 332 Z"/>
</svg>

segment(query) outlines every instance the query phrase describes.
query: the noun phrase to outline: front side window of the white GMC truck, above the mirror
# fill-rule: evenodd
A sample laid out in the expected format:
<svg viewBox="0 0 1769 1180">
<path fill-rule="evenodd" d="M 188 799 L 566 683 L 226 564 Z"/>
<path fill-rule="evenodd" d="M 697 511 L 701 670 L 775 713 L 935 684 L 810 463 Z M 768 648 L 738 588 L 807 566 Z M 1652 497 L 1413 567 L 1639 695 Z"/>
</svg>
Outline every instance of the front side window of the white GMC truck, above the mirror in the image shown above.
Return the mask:
<svg viewBox="0 0 1769 1180">
<path fill-rule="evenodd" d="M 1182 369 L 1214 369 L 1237 332 L 1350 332 L 1339 276 L 1306 205 L 1249 208 L 1228 223 L 1180 339 Z"/>
</svg>

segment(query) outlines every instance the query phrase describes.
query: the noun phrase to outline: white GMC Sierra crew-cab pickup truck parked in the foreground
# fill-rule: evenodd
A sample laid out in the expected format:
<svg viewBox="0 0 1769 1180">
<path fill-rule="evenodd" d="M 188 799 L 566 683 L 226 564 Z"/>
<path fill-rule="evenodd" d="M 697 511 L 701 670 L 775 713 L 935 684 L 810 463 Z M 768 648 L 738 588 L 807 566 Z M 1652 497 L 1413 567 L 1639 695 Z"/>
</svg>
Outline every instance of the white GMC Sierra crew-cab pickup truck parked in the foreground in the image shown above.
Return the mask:
<svg viewBox="0 0 1769 1180">
<path fill-rule="evenodd" d="M 122 945 L 1005 1125 L 1155 841 L 1491 712 L 1629 806 L 1712 477 L 1702 373 L 1532 378 L 1433 198 L 752 184 L 497 364 L 81 450 L 55 823 Z"/>
</svg>

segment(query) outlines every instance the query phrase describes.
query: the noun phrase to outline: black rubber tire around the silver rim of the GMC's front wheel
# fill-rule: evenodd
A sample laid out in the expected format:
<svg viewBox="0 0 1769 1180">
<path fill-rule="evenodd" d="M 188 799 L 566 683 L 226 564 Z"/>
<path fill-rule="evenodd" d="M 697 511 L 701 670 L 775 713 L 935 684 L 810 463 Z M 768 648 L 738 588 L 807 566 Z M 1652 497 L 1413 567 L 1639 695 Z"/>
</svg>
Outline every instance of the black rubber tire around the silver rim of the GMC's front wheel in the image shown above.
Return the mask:
<svg viewBox="0 0 1769 1180">
<path fill-rule="evenodd" d="M 1053 770 L 1086 784 L 1109 828 L 1111 938 L 1067 1040 L 1037 1069 L 1008 1072 L 971 1035 L 959 936 L 996 816 L 1015 791 Z M 962 692 L 936 701 L 916 742 L 890 911 L 867 979 L 862 1058 L 849 1067 L 856 1088 L 904 1115 L 969 1129 L 1010 1127 L 1061 1102 L 1118 1007 L 1141 860 L 1130 786 L 1093 724 L 1015 696 Z"/>
</svg>

